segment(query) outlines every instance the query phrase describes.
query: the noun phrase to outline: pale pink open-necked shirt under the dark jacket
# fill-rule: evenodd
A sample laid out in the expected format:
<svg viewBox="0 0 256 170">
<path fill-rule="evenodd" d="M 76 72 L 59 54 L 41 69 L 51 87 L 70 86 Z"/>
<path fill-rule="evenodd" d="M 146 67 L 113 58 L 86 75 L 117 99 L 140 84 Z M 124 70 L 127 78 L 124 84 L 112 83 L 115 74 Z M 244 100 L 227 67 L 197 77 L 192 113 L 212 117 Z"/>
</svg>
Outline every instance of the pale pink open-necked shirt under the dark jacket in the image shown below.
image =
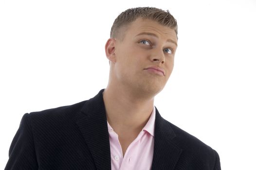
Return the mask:
<svg viewBox="0 0 256 170">
<path fill-rule="evenodd" d="M 118 135 L 108 122 L 111 170 L 151 170 L 154 151 L 155 107 L 140 134 L 128 146 L 123 157 Z"/>
</svg>

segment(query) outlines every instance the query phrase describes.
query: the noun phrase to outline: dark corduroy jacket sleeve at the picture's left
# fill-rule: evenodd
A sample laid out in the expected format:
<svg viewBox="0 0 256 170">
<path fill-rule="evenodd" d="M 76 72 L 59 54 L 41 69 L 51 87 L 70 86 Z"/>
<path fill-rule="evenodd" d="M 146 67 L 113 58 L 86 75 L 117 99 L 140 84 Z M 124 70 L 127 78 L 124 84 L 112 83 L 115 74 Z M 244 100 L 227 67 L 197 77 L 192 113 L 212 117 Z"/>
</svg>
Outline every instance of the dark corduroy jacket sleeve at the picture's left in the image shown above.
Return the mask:
<svg viewBox="0 0 256 170">
<path fill-rule="evenodd" d="M 30 115 L 24 114 L 9 150 L 4 170 L 38 170 Z"/>
</svg>

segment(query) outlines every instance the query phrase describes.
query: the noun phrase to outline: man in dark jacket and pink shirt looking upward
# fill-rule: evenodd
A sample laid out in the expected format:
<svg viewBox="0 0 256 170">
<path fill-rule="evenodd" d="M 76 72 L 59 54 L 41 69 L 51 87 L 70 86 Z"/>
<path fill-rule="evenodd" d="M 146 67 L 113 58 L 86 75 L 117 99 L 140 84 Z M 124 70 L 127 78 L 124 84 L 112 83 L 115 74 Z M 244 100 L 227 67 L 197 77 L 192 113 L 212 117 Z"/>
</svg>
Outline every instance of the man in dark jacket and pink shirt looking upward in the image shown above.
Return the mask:
<svg viewBox="0 0 256 170">
<path fill-rule="evenodd" d="M 105 46 L 107 88 L 88 101 L 25 114 L 5 170 L 220 170 L 216 151 L 154 107 L 177 40 L 168 11 L 121 13 Z"/>
</svg>

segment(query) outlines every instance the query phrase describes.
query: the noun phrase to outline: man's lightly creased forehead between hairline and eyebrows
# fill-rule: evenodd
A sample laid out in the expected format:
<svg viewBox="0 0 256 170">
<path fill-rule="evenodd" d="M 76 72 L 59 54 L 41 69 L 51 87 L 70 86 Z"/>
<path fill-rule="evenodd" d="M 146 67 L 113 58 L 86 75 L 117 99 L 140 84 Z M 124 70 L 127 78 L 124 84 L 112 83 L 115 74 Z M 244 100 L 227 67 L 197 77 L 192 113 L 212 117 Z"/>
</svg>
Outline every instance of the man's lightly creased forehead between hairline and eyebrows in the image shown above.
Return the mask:
<svg viewBox="0 0 256 170">
<path fill-rule="evenodd" d="M 157 21 L 153 21 L 151 19 L 137 18 L 128 25 L 126 30 L 128 38 L 142 33 L 156 34 L 158 37 L 171 39 L 177 42 L 177 35 L 174 29 L 161 25 Z"/>
</svg>

